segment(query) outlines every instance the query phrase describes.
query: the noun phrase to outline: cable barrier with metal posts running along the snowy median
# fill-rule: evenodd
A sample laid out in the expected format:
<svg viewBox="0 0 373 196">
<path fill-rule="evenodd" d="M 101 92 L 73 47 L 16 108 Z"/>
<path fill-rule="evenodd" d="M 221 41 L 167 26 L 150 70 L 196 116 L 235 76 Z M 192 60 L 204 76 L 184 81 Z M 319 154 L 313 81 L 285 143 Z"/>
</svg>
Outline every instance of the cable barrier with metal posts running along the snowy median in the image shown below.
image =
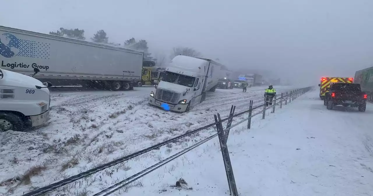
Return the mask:
<svg viewBox="0 0 373 196">
<path fill-rule="evenodd" d="M 52 190 L 55 190 L 55 189 L 57 189 L 59 187 L 62 187 L 64 185 L 66 185 L 66 184 L 72 183 L 72 182 L 74 182 L 76 180 L 80 180 L 80 179 L 82 179 L 84 177 L 87 177 L 89 175 L 95 174 L 95 173 L 97 173 L 99 171 L 102 171 L 102 170 L 104 170 L 106 168 L 109 168 L 109 167 L 112 167 L 114 165 L 120 164 L 120 163 L 122 163 L 124 161 L 128 161 L 129 159 L 132 159 L 132 158 L 140 156 L 140 155 L 142 155 L 144 153 L 150 152 L 151 150 L 159 149 L 161 146 L 164 146 L 164 145 L 169 144 L 169 143 L 173 143 L 173 142 L 175 142 L 177 140 L 180 140 L 180 139 L 182 139 L 184 137 L 187 137 L 187 136 L 190 136 L 192 134 L 198 133 L 199 131 L 206 130 L 207 128 L 213 127 L 215 125 L 216 125 L 216 129 L 217 129 L 217 133 L 216 134 L 214 134 L 214 135 L 212 135 L 210 137 L 207 137 L 206 139 L 204 139 L 202 141 L 199 141 L 198 143 L 196 143 L 196 144 L 194 144 L 194 145 L 192 145 L 192 146 L 190 146 L 190 147 L 182 150 L 181 152 L 178 152 L 175 155 L 172 155 L 169 158 L 166 158 L 166 159 L 158 162 L 157 164 L 154 164 L 151 167 L 148 167 L 148 168 L 146 168 L 146 169 L 138 172 L 137 174 L 134 174 L 131 177 L 128 177 L 125 180 L 122 180 L 119 183 L 116 183 L 113 186 L 110 186 L 107 189 L 102 190 L 99 193 L 96 193 L 94 196 L 107 196 L 107 195 L 110 195 L 110 194 L 116 192 L 117 190 L 119 190 L 119 189 L 127 186 L 128 184 L 130 184 L 130 183 L 138 180 L 139 178 L 141 178 L 141 177 L 149 174 L 150 172 L 156 170 L 157 168 L 162 167 L 163 165 L 167 164 L 168 162 L 173 161 L 174 159 L 176 159 L 179 156 L 181 156 L 181 155 L 189 152 L 190 150 L 192 150 L 192 149 L 200 146 L 201 144 L 206 143 L 207 141 L 213 139 L 216 136 L 219 137 L 220 147 L 222 149 L 223 161 L 224 161 L 225 170 L 226 170 L 226 174 L 227 174 L 229 190 L 231 191 L 231 195 L 238 196 L 238 192 L 237 192 L 237 188 L 236 188 L 236 184 L 235 184 L 235 180 L 234 180 L 234 176 L 233 176 L 233 171 L 232 171 L 232 165 L 231 165 L 231 161 L 229 159 L 228 147 L 226 145 L 226 142 L 227 142 L 228 136 L 229 136 L 229 131 L 231 130 L 231 128 L 233 128 L 233 127 L 235 127 L 235 126 L 237 126 L 237 125 L 239 125 L 239 124 L 241 124 L 241 123 L 243 123 L 245 121 L 248 121 L 247 128 L 250 129 L 251 128 L 251 118 L 253 118 L 254 116 L 256 116 L 256 115 L 258 115 L 260 113 L 263 113 L 262 119 L 264 119 L 265 118 L 265 112 L 268 109 L 272 109 L 271 113 L 274 113 L 276 105 L 280 105 L 280 108 L 282 108 L 282 103 L 283 102 L 285 102 L 285 105 L 287 105 L 288 102 L 291 103 L 292 100 L 297 99 L 297 97 L 301 96 L 302 94 L 306 93 L 307 91 L 311 90 L 312 88 L 313 87 L 298 88 L 298 89 L 292 90 L 290 92 L 286 91 L 286 94 L 281 93 L 281 97 L 277 98 L 277 99 L 275 97 L 274 100 L 272 101 L 273 104 L 271 106 L 269 106 L 269 107 L 266 107 L 265 100 L 264 100 L 264 104 L 261 104 L 261 105 L 255 106 L 255 107 L 253 106 L 253 100 L 250 100 L 249 109 L 247 111 L 234 114 L 236 106 L 232 106 L 231 107 L 231 112 L 230 112 L 228 118 L 221 119 L 220 118 L 220 114 L 217 113 L 217 115 L 214 115 L 214 118 L 215 118 L 215 122 L 214 123 L 211 123 L 211 124 L 206 125 L 206 126 L 201 127 L 201 128 L 197 128 L 196 130 L 193 130 L 193 131 L 190 131 L 188 133 L 182 134 L 180 136 L 174 137 L 174 138 L 169 139 L 167 141 L 163 141 L 163 142 L 158 143 L 158 144 L 156 144 L 154 146 L 148 147 L 146 149 L 142 149 L 142 150 L 140 150 L 138 152 L 135 152 L 135 153 L 132 153 L 130 155 L 124 156 L 122 158 L 116 159 L 116 160 L 111 161 L 111 162 L 109 162 L 107 164 L 98 166 L 96 168 L 90 169 L 90 170 L 82 172 L 80 174 L 73 175 L 73 176 L 71 176 L 69 178 L 66 178 L 64 180 L 61 180 L 61 181 L 58 181 L 56 183 L 50 184 L 48 186 L 42 187 L 40 189 L 33 190 L 31 192 L 28 192 L 28 193 L 24 194 L 23 196 L 38 196 L 38 195 L 43 195 L 46 192 L 50 192 Z M 262 110 L 256 111 L 253 114 L 254 110 L 257 110 L 257 109 L 259 109 L 261 107 L 263 107 Z M 237 116 L 241 116 L 241 115 L 246 114 L 246 113 L 248 113 L 248 117 L 247 118 L 245 118 L 245 119 L 237 122 L 236 124 L 232 125 L 233 118 L 235 118 Z M 225 121 L 228 121 L 228 122 L 227 122 L 226 128 L 224 129 L 222 123 L 225 122 Z"/>
</svg>

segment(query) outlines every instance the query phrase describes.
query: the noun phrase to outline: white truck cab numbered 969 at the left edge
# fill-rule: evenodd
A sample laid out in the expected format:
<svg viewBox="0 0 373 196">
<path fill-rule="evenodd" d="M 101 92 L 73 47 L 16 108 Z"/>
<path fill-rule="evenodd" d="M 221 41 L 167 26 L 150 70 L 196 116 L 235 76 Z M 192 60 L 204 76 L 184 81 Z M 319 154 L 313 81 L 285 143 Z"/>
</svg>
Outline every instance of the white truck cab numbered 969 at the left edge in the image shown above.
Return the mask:
<svg viewBox="0 0 373 196">
<path fill-rule="evenodd" d="M 35 74 L 38 69 L 34 69 Z M 34 75 L 35 75 L 34 74 Z M 49 119 L 51 83 L 0 69 L 0 131 L 24 131 Z"/>
</svg>

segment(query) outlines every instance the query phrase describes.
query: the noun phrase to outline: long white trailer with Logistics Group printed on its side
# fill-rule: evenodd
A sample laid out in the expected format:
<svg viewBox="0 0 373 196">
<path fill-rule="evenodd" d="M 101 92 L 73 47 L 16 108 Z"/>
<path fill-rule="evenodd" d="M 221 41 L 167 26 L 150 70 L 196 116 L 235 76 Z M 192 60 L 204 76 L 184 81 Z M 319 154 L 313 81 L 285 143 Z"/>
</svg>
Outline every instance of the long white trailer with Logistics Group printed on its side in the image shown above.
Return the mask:
<svg viewBox="0 0 373 196">
<path fill-rule="evenodd" d="M 144 53 L 0 26 L 1 69 L 50 81 L 54 86 L 131 90 L 141 81 Z"/>
</svg>

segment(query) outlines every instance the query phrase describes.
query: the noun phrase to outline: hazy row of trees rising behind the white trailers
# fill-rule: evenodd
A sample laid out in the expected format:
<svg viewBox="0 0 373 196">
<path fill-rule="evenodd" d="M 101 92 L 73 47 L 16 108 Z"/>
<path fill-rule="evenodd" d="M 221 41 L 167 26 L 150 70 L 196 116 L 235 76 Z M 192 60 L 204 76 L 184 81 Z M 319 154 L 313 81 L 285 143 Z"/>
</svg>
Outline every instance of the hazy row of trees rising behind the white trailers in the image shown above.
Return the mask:
<svg viewBox="0 0 373 196">
<path fill-rule="evenodd" d="M 50 35 L 56 35 L 60 37 L 68 37 L 68 38 L 73 38 L 77 40 L 85 40 L 84 36 L 84 29 L 66 29 L 66 28 L 60 28 L 56 32 L 50 31 Z M 91 41 L 94 43 L 102 43 L 102 44 L 109 44 L 117 47 L 125 47 L 129 49 L 134 49 L 134 50 L 140 50 L 144 52 L 144 59 L 148 60 L 155 60 L 157 62 L 157 59 L 151 56 L 151 53 L 148 51 L 148 43 L 146 40 L 138 40 L 136 41 L 135 38 L 130 38 L 129 40 L 126 40 L 123 42 L 123 44 L 120 43 L 113 43 L 109 42 L 109 37 L 107 36 L 106 32 L 101 29 L 98 30 L 93 36 L 90 38 Z M 200 52 L 197 50 L 190 48 L 190 47 L 174 47 L 172 49 L 172 52 L 170 54 L 170 59 L 173 59 L 173 57 L 177 55 L 185 55 L 185 56 L 191 56 L 191 57 L 203 57 Z M 159 64 L 164 64 L 166 59 L 164 56 L 159 57 Z M 219 59 L 216 59 L 219 60 Z M 162 65 L 159 65 L 162 66 Z"/>
</svg>

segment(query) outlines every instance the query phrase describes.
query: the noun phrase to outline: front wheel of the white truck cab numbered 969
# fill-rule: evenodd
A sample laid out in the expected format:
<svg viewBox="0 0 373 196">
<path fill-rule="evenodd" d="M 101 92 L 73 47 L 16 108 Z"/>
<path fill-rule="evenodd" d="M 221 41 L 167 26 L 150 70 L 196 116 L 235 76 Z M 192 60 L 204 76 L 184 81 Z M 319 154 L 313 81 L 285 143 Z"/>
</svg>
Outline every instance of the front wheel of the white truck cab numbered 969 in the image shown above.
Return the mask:
<svg viewBox="0 0 373 196">
<path fill-rule="evenodd" d="M 8 130 L 23 131 L 23 121 L 13 113 L 0 113 L 0 132 Z"/>
</svg>

